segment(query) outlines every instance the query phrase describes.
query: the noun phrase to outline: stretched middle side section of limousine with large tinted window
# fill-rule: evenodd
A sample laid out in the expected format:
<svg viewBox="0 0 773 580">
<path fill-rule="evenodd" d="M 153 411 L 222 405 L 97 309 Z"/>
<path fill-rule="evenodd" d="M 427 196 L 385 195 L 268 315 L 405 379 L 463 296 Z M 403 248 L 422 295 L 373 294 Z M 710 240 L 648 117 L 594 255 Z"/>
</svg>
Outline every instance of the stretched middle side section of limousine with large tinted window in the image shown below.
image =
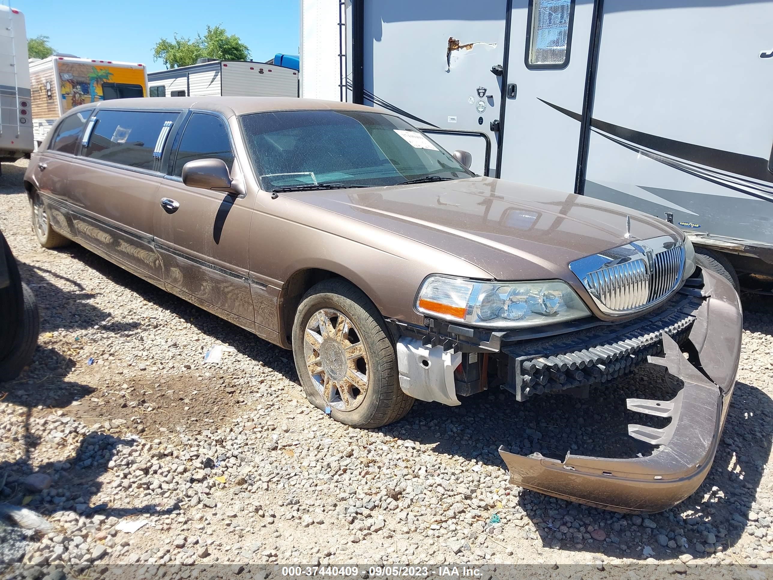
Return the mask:
<svg viewBox="0 0 773 580">
<path fill-rule="evenodd" d="M 158 148 L 179 114 L 97 109 L 70 168 L 78 237 L 158 285 L 163 276 L 153 247 L 153 214 L 164 176 Z"/>
</svg>

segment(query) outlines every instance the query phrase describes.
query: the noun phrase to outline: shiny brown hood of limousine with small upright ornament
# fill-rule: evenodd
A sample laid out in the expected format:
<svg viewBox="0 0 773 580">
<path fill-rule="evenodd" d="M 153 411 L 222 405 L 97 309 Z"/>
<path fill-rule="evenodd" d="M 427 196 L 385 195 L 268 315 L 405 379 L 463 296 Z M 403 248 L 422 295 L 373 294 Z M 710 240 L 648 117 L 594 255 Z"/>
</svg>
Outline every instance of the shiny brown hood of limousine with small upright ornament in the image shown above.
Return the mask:
<svg viewBox="0 0 773 580">
<path fill-rule="evenodd" d="M 571 280 L 568 264 L 577 258 L 637 239 L 682 236 L 663 220 L 613 203 L 488 177 L 283 195 L 436 247 L 499 280 Z"/>
</svg>

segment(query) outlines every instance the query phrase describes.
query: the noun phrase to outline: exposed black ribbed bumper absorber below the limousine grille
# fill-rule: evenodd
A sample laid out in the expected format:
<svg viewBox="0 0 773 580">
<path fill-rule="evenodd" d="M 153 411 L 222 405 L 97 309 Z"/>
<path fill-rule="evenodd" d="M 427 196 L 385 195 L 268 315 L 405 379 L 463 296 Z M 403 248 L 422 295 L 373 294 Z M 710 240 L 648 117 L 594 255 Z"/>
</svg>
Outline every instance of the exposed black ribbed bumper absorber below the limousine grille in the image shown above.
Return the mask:
<svg viewBox="0 0 773 580">
<path fill-rule="evenodd" d="M 566 339 L 515 343 L 502 348 L 509 361 L 506 388 L 519 401 L 546 391 L 605 383 L 662 352 L 662 333 L 676 343 L 689 335 L 700 300 L 683 298 L 656 315 L 628 324 L 570 333 Z"/>
</svg>

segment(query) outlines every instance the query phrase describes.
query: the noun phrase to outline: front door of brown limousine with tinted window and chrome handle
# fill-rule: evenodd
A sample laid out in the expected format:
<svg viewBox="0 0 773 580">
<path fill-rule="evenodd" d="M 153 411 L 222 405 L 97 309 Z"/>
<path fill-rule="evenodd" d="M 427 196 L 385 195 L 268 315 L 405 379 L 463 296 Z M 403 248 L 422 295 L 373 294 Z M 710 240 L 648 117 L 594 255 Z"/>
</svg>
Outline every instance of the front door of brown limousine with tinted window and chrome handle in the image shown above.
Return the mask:
<svg viewBox="0 0 773 580">
<path fill-rule="evenodd" d="M 183 165 L 196 159 L 223 159 L 234 175 L 226 119 L 193 111 L 170 157 L 169 175 L 155 194 L 153 224 L 167 289 L 253 330 L 247 250 L 254 197 L 182 183 Z"/>
</svg>

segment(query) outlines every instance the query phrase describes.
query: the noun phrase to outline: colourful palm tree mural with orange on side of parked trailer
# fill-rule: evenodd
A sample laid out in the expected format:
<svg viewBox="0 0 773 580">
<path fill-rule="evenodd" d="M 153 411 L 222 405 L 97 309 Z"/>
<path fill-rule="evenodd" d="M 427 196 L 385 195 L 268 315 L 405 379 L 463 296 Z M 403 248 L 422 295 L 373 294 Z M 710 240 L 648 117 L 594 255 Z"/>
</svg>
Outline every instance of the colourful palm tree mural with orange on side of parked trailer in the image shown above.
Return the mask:
<svg viewBox="0 0 773 580">
<path fill-rule="evenodd" d="M 95 67 L 91 63 L 59 63 L 59 78 L 63 111 L 81 104 L 104 101 L 104 83 L 145 87 L 145 71 L 142 69 Z"/>
</svg>

